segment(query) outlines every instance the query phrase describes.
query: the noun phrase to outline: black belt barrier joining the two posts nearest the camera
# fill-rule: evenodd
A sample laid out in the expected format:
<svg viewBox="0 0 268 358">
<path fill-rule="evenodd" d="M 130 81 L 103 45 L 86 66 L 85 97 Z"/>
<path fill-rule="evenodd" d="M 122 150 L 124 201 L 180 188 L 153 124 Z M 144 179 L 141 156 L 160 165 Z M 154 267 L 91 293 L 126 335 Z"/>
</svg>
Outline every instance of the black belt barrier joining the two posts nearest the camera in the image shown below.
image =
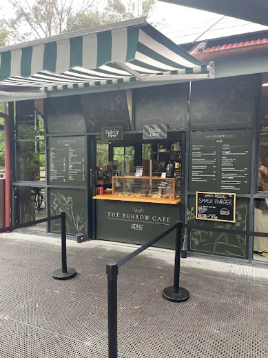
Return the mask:
<svg viewBox="0 0 268 358">
<path fill-rule="evenodd" d="M 122 259 L 110 261 L 106 266 L 107 284 L 108 284 L 108 300 L 107 300 L 107 315 L 108 315 L 108 350 L 109 358 L 118 357 L 118 342 L 117 342 L 117 278 L 118 268 L 136 257 L 138 254 L 150 248 L 154 243 L 163 239 L 170 232 L 176 230 L 176 250 L 175 250 L 175 267 L 174 267 L 174 286 L 167 287 L 163 290 L 163 297 L 172 302 L 183 302 L 189 299 L 189 292 L 185 288 L 180 287 L 180 265 L 181 265 L 181 237 L 182 237 L 182 222 L 178 221 L 172 228 L 163 232 L 155 239 L 152 239 L 145 245 L 141 246 L 134 252 L 126 255 Z"/>
</svg>

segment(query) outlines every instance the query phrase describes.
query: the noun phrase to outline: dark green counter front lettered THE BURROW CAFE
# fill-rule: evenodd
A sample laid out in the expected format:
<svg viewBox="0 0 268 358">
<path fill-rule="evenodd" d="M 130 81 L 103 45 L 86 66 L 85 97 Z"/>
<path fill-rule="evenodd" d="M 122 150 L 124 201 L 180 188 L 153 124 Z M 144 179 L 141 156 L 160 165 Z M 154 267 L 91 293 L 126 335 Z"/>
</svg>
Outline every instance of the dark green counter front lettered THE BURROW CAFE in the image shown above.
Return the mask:
<svg viewBox="0 0 268 358">
<path fill-rule="evenodd" d="M 181 219 L 181 204 L 96 200 L 97 239 L 143 245 Z M 175 247 L 175 232 L 156 243 Z"/>
</svg>

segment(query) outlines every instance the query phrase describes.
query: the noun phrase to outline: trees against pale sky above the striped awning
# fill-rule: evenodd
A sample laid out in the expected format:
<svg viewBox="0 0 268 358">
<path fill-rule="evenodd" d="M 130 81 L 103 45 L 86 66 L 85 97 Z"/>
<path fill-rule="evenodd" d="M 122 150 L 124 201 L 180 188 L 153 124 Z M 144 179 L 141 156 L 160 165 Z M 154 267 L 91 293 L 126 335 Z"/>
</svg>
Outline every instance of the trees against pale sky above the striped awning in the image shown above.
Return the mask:
<svg viewBox="0 0 268 358">
<path fill-rule="evenodd" d="M 98 10 L 99 0 L 10 0 L 14 17 L 5 21 L 6 31 L 14 42 L 29 41 L 135 17 L 150 18 L 156 3 L 127 0 L 125 5 L 124 0 L 103 1 L 105 7 Z M 27 30 L 22 32 L 22 28 Z"/>
</svg>

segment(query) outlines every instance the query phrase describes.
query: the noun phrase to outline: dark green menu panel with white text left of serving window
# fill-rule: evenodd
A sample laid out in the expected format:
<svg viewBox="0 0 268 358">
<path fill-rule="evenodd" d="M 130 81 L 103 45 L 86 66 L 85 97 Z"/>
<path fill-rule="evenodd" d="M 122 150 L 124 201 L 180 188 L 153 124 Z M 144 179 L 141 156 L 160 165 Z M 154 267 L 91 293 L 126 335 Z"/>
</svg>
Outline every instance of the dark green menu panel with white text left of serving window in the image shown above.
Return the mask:
<svg viewBox="0 0 268 358">
<path fill-rule="evenodd" d="M 52 185 L 85 185 L 85 137 L 50 137 L 48 182 Z"/>
</svg>

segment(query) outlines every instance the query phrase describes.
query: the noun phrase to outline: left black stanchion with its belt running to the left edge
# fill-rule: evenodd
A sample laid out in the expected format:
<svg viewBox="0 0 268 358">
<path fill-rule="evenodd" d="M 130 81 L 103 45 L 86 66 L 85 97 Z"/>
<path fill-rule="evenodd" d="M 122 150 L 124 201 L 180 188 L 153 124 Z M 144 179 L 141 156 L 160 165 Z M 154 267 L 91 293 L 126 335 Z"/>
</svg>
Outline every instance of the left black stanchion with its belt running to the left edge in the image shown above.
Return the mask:
<svg viewBox="0 0 268 358">
<path fill-rule="evenodd" d="M 28 226 L 37 225 L 38 223 L 45 223 L 51 220 L 61 219 L 61 268 L 52 273 L 54 279 L 72 279 L 76 275 L 74 268 L 67 267 L 67 250 L 66 250 L 66 213 L 61 212 L 60 215 L 53 217 L 45 217 L 44 219 L 29 221 L 28 223 L 19 223 L 18 225 L 8 226 L 7 228 L 0 228 L 0 233 L 10 232 L 13 230 L 28 228 Z"/>
</svg>

